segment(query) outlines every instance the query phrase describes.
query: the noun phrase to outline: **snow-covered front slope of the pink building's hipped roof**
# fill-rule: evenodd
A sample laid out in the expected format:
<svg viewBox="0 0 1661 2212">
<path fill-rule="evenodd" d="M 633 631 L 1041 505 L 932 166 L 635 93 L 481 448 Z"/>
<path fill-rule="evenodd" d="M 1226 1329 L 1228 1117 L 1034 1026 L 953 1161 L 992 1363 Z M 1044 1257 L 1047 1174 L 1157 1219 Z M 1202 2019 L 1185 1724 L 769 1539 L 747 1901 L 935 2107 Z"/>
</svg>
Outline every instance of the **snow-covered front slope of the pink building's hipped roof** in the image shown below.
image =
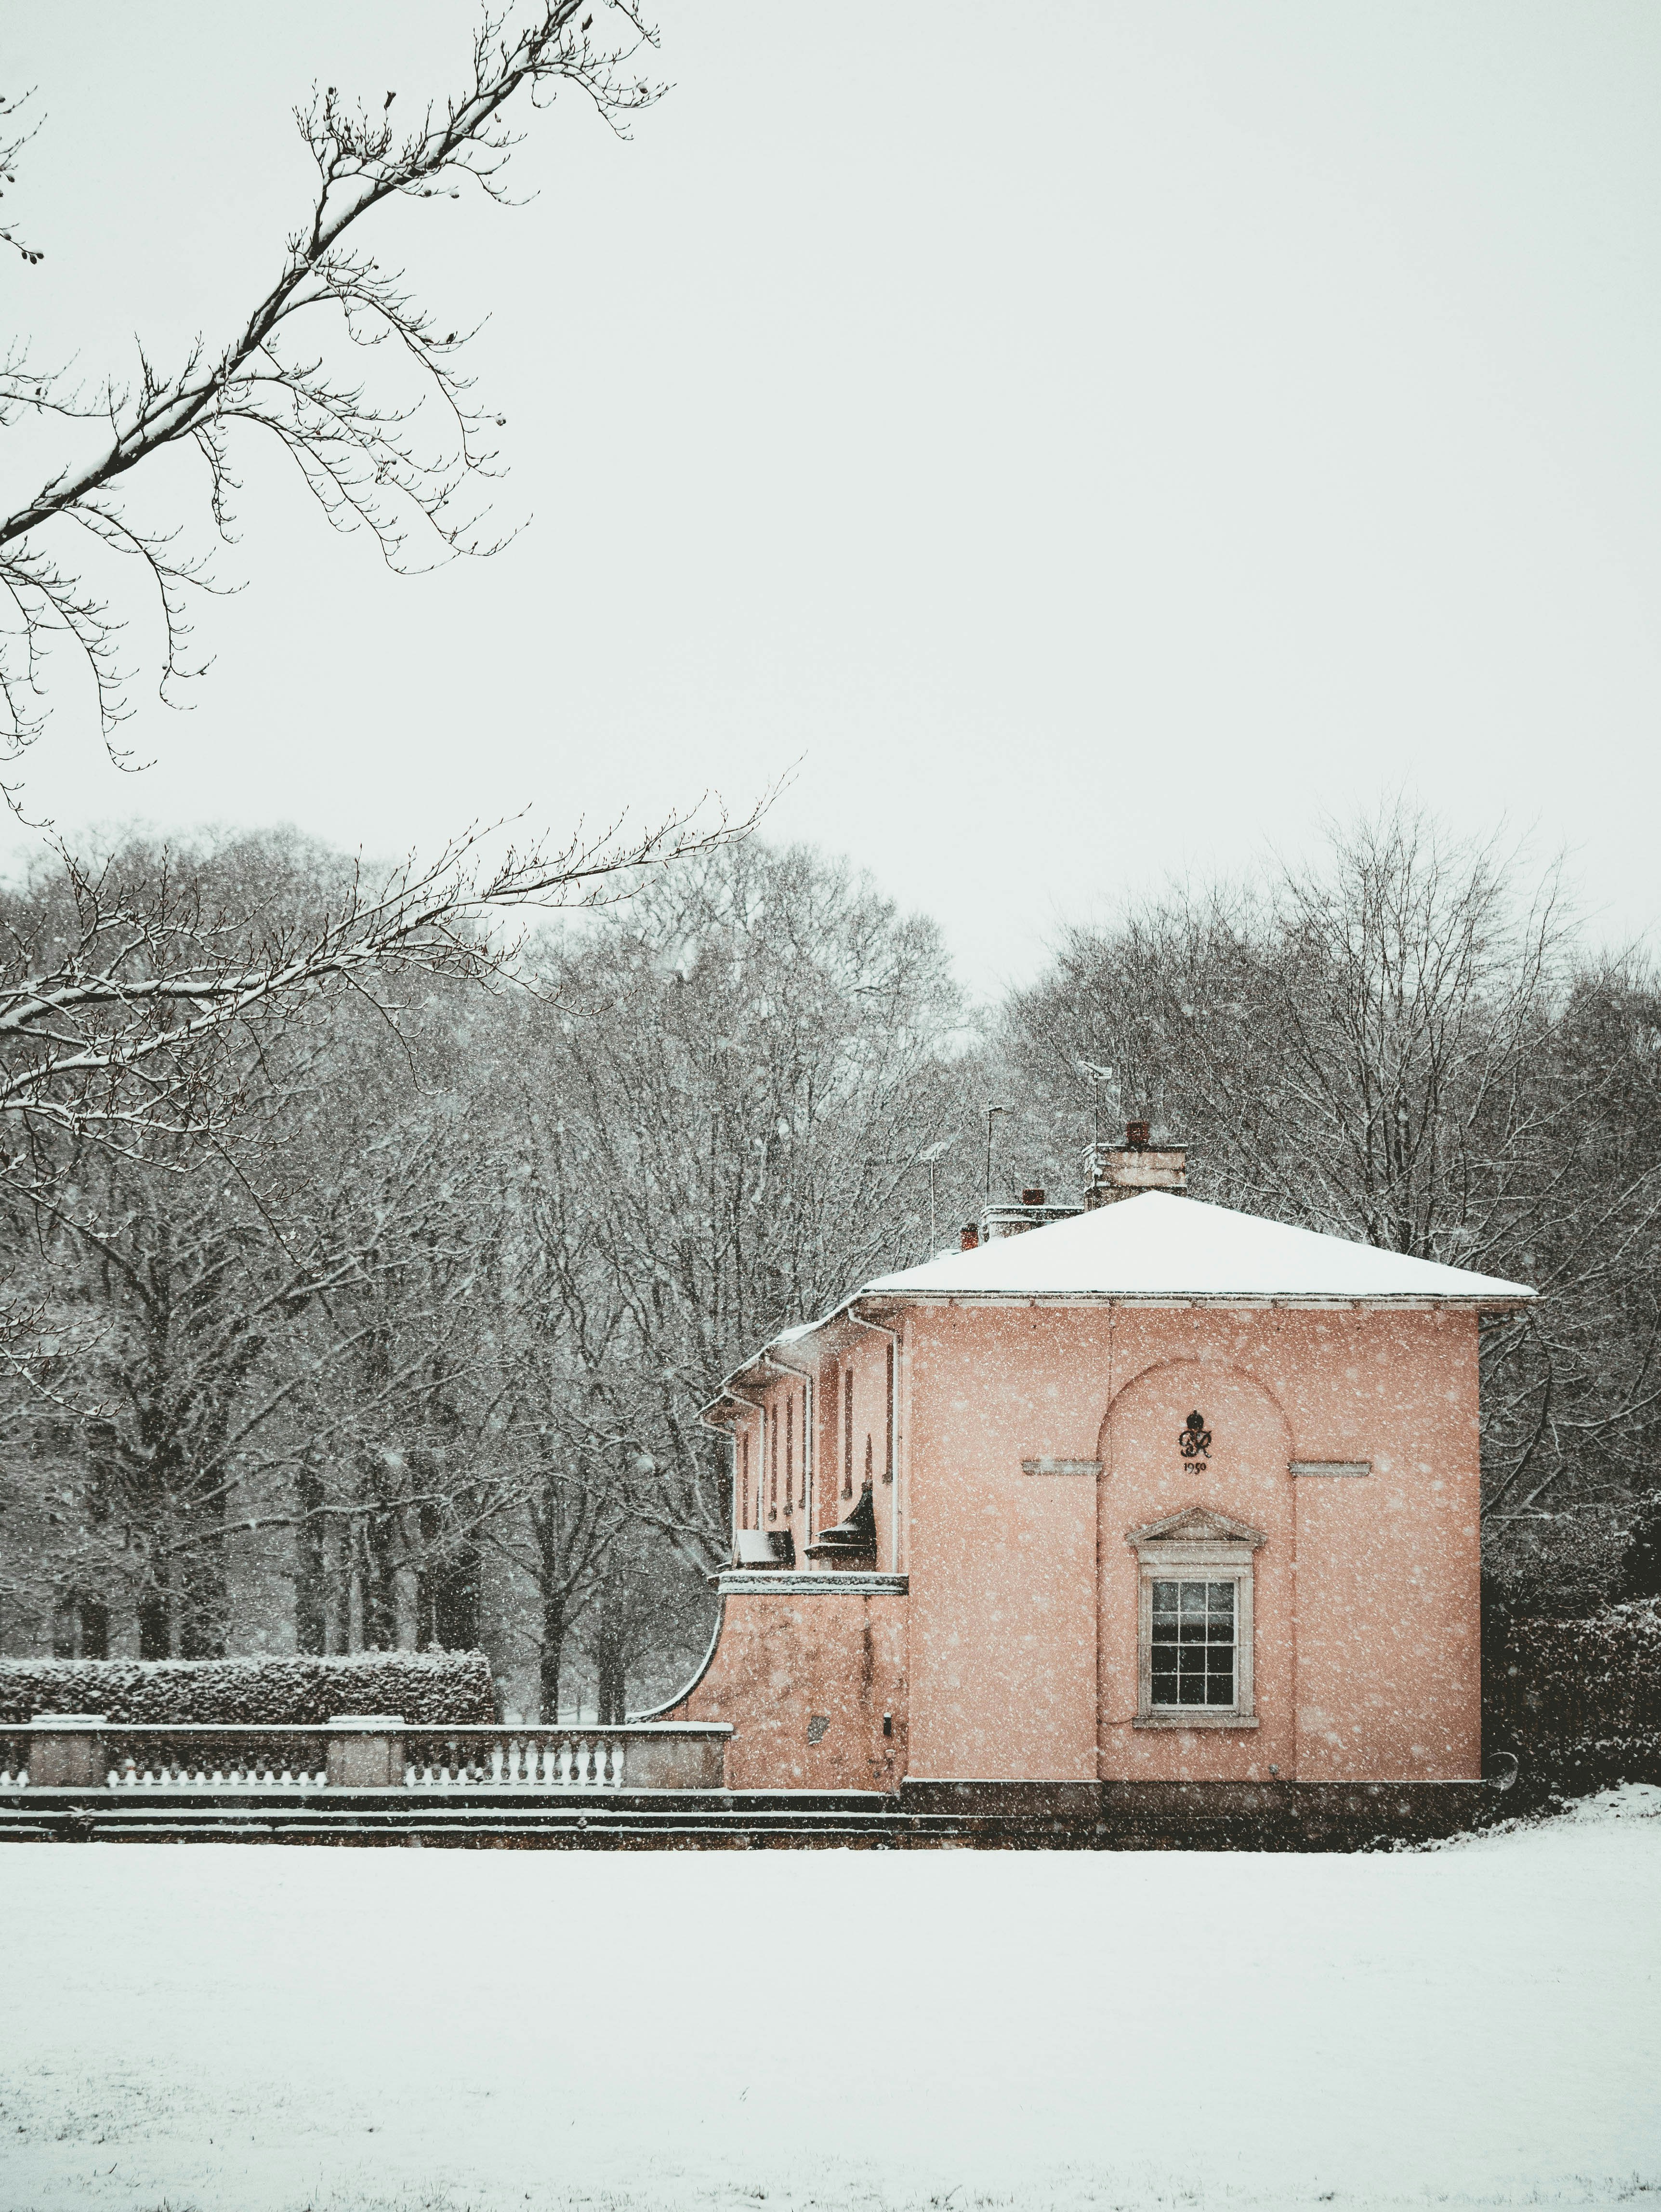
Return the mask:
<svg viewBox="0 0 1661 2212">
<path fill-rule="evenodd" d="M 920 1267 L 880 1274 L 860 1296 L 896 1292 L 953 1298 L 1455 1298 L 1477 1307 L 1535 1296 L 1524 1283 L 1161 1190 L 1000 1237 L 975 1252 L 944 1252 Z"/>
</svg>

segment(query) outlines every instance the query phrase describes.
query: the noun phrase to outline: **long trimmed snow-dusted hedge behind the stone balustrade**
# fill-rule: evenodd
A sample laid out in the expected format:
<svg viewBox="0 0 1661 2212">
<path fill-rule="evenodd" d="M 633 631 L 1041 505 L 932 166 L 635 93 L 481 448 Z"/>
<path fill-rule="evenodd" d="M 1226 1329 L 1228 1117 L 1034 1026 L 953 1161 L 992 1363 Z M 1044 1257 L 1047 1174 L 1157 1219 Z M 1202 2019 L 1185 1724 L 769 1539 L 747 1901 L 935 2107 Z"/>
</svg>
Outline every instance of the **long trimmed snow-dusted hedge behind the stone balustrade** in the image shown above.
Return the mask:
<svg viewBox="0 0 1661 2212">
<path fill-rule="evenodd" d="M 341 1712 L 398 1712 L 418 1728 L 495 1719 L 484 1652 L 354 1652 L 345 1659 L 0 1659 L 0 1725 L 102 1712 L 128 1725 L 318 1728 Z"/>
</svg>

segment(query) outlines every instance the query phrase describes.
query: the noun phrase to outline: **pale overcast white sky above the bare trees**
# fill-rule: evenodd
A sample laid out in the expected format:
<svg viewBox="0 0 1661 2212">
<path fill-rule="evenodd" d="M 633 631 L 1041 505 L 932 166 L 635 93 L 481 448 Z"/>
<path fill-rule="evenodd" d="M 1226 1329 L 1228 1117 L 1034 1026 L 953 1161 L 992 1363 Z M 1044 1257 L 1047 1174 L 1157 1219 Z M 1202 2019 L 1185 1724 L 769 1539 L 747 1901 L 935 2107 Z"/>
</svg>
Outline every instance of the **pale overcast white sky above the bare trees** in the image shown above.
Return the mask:
<svg viewBox="0 0 1661 2212">
<path fill-rule="evenodd" d="M 7 11 L 46 126 L 15 327 L 215 338 L 307 192 L 310 84 L 403 108 L 460 0 Z M 770 834 L 933 911 L 980 989 L 1062 918 L 1404 787 L 1661 911 L 1661 11 L 664 0 L 617 144 L 380 232 L 506 416 L 495 560 L 403 582 L 250 471 L 246 580 L 142 776 L 64 699 L 73 830 L 376 852 L 792 763 Z M 15 467 L 9 471 L 15 476 Z M 29 491 L 33 484 L 13 482 Z"/>
</svg>

